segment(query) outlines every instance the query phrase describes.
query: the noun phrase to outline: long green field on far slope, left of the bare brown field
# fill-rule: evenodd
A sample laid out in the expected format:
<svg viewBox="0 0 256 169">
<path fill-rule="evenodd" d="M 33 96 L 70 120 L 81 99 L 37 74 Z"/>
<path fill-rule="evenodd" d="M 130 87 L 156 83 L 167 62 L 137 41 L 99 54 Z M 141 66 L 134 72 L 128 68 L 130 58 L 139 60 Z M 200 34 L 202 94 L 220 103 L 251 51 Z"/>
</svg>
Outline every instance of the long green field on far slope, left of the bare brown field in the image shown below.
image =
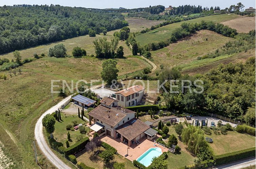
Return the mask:
<svg viewBox="0 0 256 169">
<path fill-rule="evenodd" d="M 191 19 L 188 21 L 172 23 L 172 24 L 162 26 L 162 27 L 159 27 L 158 29 L 153 30 L 153 31 L 158 31 L 156 33 L 151 33 L 152 31 L 149 31 L 147 33 L 136 36 L 135 39 L 141 45 L 144 45 L 150 42 L 159 42 L 169 38 L 172 31 L 180 27 L 180 25 L 183 22 L 195 23 L 195 22 L 201 22 L 202 20 L 213 21 L 213 22 L 223 22 L 223 21 L 231 20 L 238 17 L 239 16 L 236 14 L 231 14 L 231 15 L 222 14 L 222 15 L 212 15 L 212 16 L 206 16 L 206 17 L 197 18 L 197 19 Z"/>
</svg>

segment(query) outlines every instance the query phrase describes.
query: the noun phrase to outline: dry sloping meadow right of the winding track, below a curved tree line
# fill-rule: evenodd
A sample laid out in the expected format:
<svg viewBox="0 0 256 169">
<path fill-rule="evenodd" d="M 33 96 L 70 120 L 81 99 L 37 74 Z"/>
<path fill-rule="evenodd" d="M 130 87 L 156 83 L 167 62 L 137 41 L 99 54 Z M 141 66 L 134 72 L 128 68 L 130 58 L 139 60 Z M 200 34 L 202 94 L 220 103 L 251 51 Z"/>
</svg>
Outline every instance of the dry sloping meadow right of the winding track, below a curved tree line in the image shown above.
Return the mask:
<svg viewBox="0 0 256 169">
<path fill-rule="evenodd" d="M 160 69 L 161 64 L 169 68 L 188 64 L 197 60 L 198 56 L 214 51 L 230 40 L 234 39 L 212 31 L 201 30 L 177 43 L 170 44 L 166 48 L 152 51 L 151 61 L 158 66 L 158 69 Z"/>
</svg>

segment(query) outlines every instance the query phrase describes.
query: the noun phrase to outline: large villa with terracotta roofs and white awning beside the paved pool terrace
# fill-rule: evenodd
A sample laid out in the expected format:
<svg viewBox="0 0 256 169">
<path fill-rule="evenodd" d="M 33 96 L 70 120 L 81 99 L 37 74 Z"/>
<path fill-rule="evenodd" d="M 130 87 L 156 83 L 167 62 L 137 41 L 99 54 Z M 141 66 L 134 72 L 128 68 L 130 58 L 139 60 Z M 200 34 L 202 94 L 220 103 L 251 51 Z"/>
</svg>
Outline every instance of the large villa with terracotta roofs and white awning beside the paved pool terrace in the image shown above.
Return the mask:
<svg viewBox="0 0 256 169">
<path fill-rule="evenodd" d="M 91 130 L 99 136 L 106 134 L 112 139 L 118 139 L 128 146 L 139 144 L 143 138 L 152 140 L 156 137 L 156 130 L 135 118 L 134 111 L 115 106 L 117 102 L 109 97 L 100 101 L 101 104 L 88 114 L 92 123 Z"/>
</svg>

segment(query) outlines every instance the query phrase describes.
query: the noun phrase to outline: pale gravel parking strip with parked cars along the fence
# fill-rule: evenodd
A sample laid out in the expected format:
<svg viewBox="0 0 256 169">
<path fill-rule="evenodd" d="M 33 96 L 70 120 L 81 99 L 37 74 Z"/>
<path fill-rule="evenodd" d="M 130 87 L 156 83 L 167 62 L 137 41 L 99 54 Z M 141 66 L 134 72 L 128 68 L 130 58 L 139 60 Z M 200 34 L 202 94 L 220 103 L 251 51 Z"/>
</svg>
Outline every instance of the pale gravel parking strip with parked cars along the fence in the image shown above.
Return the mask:
<svg viewBox="0 0 256 169">
<path fill-rule="evenodd" d="M 183 122 L 184 120 L 185 120 L 184 117 L 181 117 L 181 118 L 180 118 L 180 121 L 181 121 L 181 122 Z M 193 120 L 194 120 L 194 124 L 195 124 L 195 121 L 196 121 L 196 120 L 199 120 L 200 125 L 201 125 L 201 121 L 202 121 L 202 120 L 205 120 L 205 123 L 206 123 L 206 121 L 208 120 L 207 127 L 211 127 L 212 121 L 213 121 L 213 122 L 215 123 L 215 125 L 217 126 L 218 121 L 219 121 L 220 119 L 215 118 L 215 117 L 208 117 L 208 116 L 193 116 L 193 117 L 191 117 L 191 120 L 187 120 L 187 122 L 188 122 L 188 123 L 192 123 Z M 227 124 L 227 123 L 229 123 L 232 127 L 236 127 L 236 124 L 234 124 L 234 123 L 230 123 L 230 122 L 224 121 L 224 120 L 221 120 L 221 121 L 222 121 L 222 124 L 224 124 L 224 125 Z"/>
</svg>

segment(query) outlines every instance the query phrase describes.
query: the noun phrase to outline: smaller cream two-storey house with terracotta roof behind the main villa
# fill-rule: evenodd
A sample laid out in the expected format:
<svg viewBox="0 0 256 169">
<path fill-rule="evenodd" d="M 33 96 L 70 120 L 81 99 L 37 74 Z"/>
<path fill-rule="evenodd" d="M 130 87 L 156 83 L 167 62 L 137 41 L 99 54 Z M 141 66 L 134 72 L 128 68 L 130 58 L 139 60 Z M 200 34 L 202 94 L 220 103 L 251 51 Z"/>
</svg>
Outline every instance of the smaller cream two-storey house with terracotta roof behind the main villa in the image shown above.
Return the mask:
<svg viewBox="0 0 256 169">
<path fill-rule="evenodd" d="M 135 85 L 127 89 L 116 92 L 116 100 L 118 100 L 118 106 L 129 107 L 136 106 L 140 102 L 144 95 L 144 87 L 141 85 Z"/>
</svg>

